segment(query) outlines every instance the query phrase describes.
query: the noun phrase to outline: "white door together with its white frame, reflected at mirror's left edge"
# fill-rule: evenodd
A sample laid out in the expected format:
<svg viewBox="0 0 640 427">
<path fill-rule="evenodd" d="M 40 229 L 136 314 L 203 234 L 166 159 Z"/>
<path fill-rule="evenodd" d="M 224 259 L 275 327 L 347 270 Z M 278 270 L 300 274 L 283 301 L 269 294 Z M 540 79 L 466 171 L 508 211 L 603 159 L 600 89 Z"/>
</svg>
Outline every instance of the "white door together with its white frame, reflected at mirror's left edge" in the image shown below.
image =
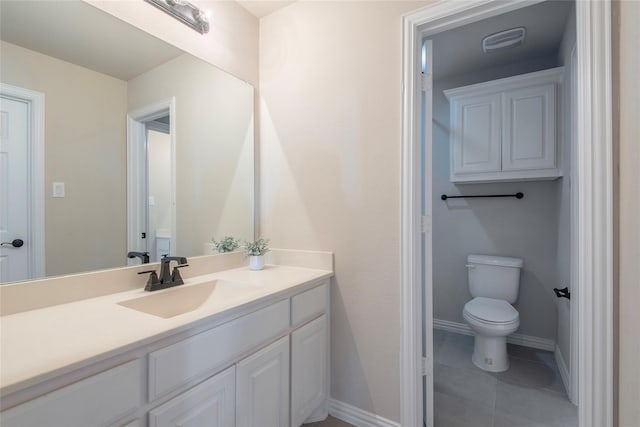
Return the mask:
<svg viewBox="0 0 640 427">
<path fill-rule="evenodd" d="M 0 86 L 0 283 L 44 275 L 42 164 L 44 97 Z"/>
</svg>

